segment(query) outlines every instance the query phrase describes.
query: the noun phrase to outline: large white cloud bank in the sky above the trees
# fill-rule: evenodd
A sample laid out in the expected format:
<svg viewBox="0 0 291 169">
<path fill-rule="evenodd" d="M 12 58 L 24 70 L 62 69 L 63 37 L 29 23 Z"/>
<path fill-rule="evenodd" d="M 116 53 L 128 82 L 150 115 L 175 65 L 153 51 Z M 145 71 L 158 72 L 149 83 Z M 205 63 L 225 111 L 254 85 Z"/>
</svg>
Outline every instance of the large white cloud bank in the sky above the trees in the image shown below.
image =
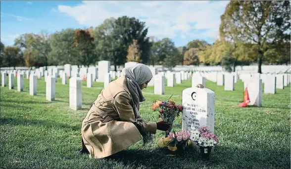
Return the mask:
<svg viewBox="0 0 291 169">
<path fill-rule="evenodd" d="M 144 21 L 148 36 L 182 39 L 217 39 L 220 15 L 229 1 L 82 1 L 58 10 L 85 26 L 98 26 L 106 18 L 130 16 Z"/>
</svg>

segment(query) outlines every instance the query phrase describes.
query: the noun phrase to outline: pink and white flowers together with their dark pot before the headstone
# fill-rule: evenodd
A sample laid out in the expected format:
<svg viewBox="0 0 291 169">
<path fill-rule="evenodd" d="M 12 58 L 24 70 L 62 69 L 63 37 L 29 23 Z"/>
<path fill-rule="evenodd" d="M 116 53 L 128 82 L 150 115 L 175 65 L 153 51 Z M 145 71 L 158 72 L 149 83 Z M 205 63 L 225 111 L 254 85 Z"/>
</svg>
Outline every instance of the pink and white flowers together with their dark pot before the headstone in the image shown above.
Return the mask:
<svg viewBox="0 0 291 169">
<path fill-rule="evenodd" d="M 218 144 L 218 137 L 207 126 L 201 126 L 199 130 L 192 130 L 191 140 L 197 143 L 203 158 L 209 158 L 212 147 Z"/>
</svg>

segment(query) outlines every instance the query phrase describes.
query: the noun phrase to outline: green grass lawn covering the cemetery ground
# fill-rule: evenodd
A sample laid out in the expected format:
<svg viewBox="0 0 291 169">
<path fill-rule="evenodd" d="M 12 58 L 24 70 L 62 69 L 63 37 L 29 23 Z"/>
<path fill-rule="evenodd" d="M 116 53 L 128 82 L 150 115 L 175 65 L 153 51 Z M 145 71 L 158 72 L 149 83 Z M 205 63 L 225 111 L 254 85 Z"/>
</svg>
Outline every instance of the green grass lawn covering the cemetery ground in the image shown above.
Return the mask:
<svg viewBox="0 0 291 169">
<path fill-rule="evenodd" d="M 29 95 L 26 76 L 23 92 L 17 92 L 16 79 L 14 82 L 12 90 L 0 87 L 0 168 L 290 168 L 290 85 L 277 89 L 275 95 L 263 94 L 262 107 L 240 108 L 241 81 L 235 91 L 224 91 L 223 86 L 206 81 L 206 87 L 215 91 L 215 134 L 220 142 L 208 161 L 196 150 L 171 156 L 167 149 L 158 148 L 156 141 L 162 131 L 145 147 L 140 141 L 121 152 L 120 159 L 97 160 L 79 150 L 81 123 L 102 83 L 87 88 L 83 82 L 82 110 L 73 111 L 69 108 L 69 85 L 61 84 L 61 79 L 52 102 L 46 100 L 44 78 L 37 82 L 36 96 Z M 147 87 L 141 115 L 157 122 L 158 113 L 151 111 L 151 103 L 173 94 L 181 104 L 182 90 L 189 86 L 190 80 L 166 87 L 163 96 L 154 95 L 153 87 Z M 181 128 L 180 120 L 181 116 L 174 129 Z"/>
</svg>

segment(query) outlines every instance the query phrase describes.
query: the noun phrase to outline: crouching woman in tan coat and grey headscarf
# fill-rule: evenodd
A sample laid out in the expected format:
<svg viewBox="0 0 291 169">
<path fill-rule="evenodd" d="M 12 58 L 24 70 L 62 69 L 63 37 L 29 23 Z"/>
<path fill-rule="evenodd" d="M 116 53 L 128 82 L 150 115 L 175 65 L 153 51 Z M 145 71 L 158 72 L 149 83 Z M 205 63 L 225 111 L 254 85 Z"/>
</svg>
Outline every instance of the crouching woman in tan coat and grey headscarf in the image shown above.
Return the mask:
<svg viewBox="0 0 291 169">
<path fill-rule="evenodd" d="M 123 76 L 102 89 L 82 122 L 82 150 L 90 157 L 104 158 L 135 144 L 148 133 L 166 131 L 166 122 L 145 122 L 139 114 L 145 101 L 142 89 L 152 74 L 144 64 L 124 68 Z"/>
</svg>

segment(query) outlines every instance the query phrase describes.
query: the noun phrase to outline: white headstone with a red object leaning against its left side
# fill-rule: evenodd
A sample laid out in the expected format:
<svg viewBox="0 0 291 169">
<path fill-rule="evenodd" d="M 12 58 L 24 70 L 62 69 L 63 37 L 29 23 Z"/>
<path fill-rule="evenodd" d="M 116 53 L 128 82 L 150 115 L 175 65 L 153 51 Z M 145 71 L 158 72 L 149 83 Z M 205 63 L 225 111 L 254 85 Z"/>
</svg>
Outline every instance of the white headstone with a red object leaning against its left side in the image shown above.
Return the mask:
<svg viewBox="0 0 291 169">
<path fill-rule="evenodd" d="M 262 80 L 257 77 L 250 78 L 249 81 L 245 82 L 250 103 L 256 107 L 262 106 Z"/>
</svg>

